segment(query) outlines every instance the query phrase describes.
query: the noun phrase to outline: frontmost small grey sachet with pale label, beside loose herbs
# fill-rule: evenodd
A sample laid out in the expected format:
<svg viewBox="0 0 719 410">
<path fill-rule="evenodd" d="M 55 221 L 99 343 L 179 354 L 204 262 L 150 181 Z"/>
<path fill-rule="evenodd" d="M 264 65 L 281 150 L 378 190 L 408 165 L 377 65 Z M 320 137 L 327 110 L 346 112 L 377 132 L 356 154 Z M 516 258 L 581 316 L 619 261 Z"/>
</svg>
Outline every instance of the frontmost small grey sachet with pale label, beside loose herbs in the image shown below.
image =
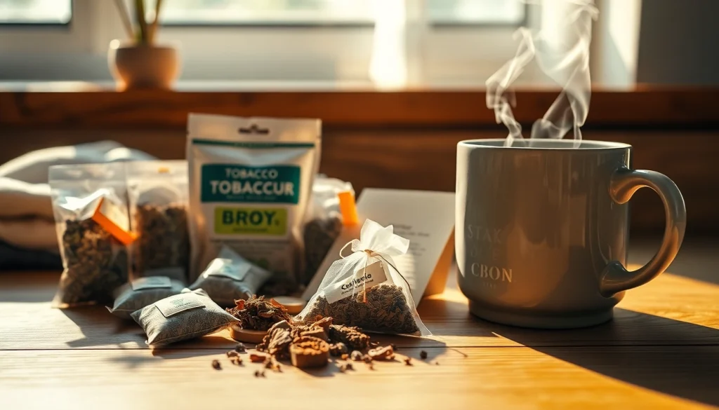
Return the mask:
<svg viewBox="0 0 719 410">
<path fill-rule="evenodd" d="M 202 289 L 166 297 L 132 313 L 132 319 L 145 330 L 151 346 L 210 335 L 237 322 Z"/>
</svg>

